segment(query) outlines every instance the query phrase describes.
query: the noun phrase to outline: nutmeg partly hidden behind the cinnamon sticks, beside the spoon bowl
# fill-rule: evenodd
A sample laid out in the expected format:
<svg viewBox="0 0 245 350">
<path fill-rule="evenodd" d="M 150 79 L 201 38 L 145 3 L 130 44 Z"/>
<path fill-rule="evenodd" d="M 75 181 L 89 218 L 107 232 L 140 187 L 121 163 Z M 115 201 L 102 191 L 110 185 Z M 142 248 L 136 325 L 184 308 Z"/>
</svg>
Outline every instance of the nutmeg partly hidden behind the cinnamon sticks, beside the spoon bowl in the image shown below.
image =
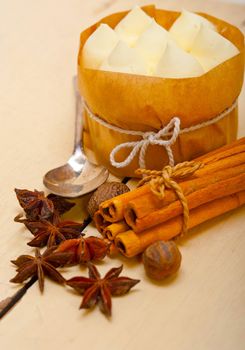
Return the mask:
<svg viewBox="0 0 245 350">
<path fill-rule="evenodd" d="M 122 182 L 105 182 L 99 186 L 88 202 L 87 210 L 91 218 L 93 218 L 94 213 L 99 209 L 100 203 L 128 191 L 130 191 L 129 187 Z"/>
</svg>

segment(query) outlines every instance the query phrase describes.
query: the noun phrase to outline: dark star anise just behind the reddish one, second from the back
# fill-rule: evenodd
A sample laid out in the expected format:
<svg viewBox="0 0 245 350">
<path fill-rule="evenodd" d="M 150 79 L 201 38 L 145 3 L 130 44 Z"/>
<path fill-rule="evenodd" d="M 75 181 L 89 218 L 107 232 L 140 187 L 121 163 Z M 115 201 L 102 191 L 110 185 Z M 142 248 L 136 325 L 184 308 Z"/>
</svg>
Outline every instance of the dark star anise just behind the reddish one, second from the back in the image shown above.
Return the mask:
<svg viewBox="0 0 245 350">
<path fill-rule="evenodd" d="M 84 228 L 82 223 L 68 220 L 61 221 L 58 214 L 54 214 L 50 220 L 32 221 L 17 216 L 15 221 L 25 224 L 26 228 L 35 236 L 27 243 L 31 247 L 43 247 L 46 244 L 48 247 L 58 245 L 66 239 L 79 237 Z"/>
</svg>

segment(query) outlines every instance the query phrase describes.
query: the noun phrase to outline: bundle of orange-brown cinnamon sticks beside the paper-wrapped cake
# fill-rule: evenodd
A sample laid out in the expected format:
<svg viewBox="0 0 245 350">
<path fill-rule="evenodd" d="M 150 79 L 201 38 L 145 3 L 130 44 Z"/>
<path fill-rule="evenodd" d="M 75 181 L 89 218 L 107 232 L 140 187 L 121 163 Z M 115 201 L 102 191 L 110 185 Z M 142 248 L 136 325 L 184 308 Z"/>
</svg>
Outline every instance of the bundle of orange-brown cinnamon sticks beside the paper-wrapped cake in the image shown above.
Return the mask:
<svg viewBox="0 0 245 350">
<path fill-rule="evenodd" d="M 203 166 L 178 182 L 189 207 L 188 228 L 245 203 L 245 137 L 199 157 Z M 183 207 L 172 189 L 157 197 L 146 184 L 101 203 L 98 230 L 127 257 L 181 233 Z"/>
</svg>

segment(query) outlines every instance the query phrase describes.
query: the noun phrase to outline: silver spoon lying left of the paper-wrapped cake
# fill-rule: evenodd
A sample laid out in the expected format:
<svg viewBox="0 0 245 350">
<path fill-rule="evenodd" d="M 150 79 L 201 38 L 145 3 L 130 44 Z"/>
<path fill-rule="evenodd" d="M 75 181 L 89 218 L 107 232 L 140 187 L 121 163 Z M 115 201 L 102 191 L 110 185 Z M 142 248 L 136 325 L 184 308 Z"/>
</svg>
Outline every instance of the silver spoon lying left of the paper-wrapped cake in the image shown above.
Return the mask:
<svg viewBox="0 0 245 350">
<path fill-rule="evenodd" d="M 43 177 L 44 185 L 52 192 L 63 197 L 79 197 L 91 192 L 104 183 L 108 170 L 92 164 L 86 158 L 82 147 L 82 101 L 74 77 L 76 93 L 76 120 L 74 150 L 67 163 L 48 171 Z"/>
</svg>

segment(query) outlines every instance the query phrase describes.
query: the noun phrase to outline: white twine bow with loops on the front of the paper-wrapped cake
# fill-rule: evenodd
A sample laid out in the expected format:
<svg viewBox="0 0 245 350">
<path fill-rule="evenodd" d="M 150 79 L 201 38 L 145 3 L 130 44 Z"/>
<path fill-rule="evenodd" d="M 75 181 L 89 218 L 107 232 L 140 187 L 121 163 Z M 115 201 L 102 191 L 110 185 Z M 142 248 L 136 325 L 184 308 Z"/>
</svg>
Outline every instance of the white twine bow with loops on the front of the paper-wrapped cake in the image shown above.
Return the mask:
<svg viewBox="0 0 245 350">
<path fill-rule="evenodd" d="M 171 146 L 175 143 L 180 132 L 180 119 L 174 117 L 170 122 L 158 132 L 149 131 L 141 132 L 139 135 L 142 137 L 140 141 L 132 141 L 121 143 L 116 146 L 110 154 L 110 162 L 116 168 L 123 168 L 130 164 L 136 154 L 139 152 L 139 166 L 140 168 L 145 168 L 145 153 L 149 145 L 159 145 L 166 148 L 169 164 L 174 165 L 174 156 Z M 170 136 L 169 139 L 166 139 Z M 165 138 L 165 139 L 162 139 Z M 121 162 L 115 160 L 116 154 L 124 148 L 132 148 L 127 158 Z"/>
</svg>

